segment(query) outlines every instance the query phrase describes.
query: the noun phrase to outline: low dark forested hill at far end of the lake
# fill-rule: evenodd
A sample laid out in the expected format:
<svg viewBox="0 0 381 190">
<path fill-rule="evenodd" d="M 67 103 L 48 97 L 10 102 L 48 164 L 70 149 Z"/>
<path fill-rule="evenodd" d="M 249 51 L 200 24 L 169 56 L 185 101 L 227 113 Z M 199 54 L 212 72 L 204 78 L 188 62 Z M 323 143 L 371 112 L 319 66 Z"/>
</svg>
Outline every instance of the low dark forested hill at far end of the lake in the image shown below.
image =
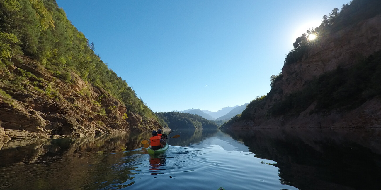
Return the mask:
<svg viewBox="0 0 381 190">
<path fill-rule="evenodd" d="M 155 112 L 171 130 L 218 128 L 218 125 L 201 116 L 181 112 Z"/>
</svg>

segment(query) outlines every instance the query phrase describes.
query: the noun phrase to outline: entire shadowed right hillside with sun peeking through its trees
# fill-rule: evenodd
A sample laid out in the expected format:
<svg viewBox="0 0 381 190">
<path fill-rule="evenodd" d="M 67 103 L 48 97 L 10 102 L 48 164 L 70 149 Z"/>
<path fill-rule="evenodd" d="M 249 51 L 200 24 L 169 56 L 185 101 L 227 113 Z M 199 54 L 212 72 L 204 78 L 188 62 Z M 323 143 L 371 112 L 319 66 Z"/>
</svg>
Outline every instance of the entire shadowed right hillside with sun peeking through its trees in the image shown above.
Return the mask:
<svg viewBox="0 0 381 190">
<path fill-rule="evenodd" d="M 380 26 L 379 0 L 334 8 L 296 38 L 271 91 L 223 127 L 381 126 Z"/>
</svg>

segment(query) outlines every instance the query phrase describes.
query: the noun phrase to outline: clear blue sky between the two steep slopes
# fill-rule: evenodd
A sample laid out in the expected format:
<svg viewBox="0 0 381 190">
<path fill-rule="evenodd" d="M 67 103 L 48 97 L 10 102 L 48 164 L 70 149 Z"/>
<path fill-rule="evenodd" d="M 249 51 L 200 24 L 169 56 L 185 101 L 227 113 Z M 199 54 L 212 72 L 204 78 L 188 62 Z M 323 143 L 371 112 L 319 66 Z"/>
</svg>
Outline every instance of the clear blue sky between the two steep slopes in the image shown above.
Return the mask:
<svg viewBox="0 0 381 190">
<path fill-rule="evenodd" d="M 218 111 L 270 91 L 295 38 L 350 0 L 56 0 L 152 111 Z"/>
</svg>

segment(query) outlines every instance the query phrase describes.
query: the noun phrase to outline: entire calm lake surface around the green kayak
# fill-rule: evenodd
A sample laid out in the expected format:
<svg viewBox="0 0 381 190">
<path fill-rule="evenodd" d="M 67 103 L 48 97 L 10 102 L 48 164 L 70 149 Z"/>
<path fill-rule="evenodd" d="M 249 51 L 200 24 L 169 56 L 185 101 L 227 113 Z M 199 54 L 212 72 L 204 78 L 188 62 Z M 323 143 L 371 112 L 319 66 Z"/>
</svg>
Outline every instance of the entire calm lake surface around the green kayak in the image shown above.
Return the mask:
<svg viewBox="0 0 381 190">
<path fill-rule="evenodd" d="M 178 130 L 0 142 L 0 189 L 379 189 L 380 130 Z"/>
</svg>

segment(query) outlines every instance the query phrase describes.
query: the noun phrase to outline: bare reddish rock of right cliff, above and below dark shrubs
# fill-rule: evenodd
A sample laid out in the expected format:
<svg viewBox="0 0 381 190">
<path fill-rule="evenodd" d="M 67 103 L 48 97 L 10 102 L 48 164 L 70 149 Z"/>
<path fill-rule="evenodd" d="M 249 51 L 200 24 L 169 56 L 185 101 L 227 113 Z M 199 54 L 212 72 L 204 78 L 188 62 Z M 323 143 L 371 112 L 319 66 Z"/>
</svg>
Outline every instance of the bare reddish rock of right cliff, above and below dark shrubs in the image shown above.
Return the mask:
<svg viewBox="0 0 381 190">
<path fill-rule="evenodd" d="M 312 100 L 297 115 L 274 115 L 270 110 L 291 93 L 298 93 L 312 79 L 340 68 L 351 68 L 381 50 L 381 16 L 319 36 L 303 58 L 282 68 L 282 76 L 274 82 L 265 101 L 248 105 L 245 119 L 237 119 L 227 128 L 294 128 L 294 127 L 381 127 L 381 99 L 379 96 L 351 110 L 332 109 L 316 112 L 317 101 Z M 296 100 L 298 97 L 296 96 Z"/>
</svg>

